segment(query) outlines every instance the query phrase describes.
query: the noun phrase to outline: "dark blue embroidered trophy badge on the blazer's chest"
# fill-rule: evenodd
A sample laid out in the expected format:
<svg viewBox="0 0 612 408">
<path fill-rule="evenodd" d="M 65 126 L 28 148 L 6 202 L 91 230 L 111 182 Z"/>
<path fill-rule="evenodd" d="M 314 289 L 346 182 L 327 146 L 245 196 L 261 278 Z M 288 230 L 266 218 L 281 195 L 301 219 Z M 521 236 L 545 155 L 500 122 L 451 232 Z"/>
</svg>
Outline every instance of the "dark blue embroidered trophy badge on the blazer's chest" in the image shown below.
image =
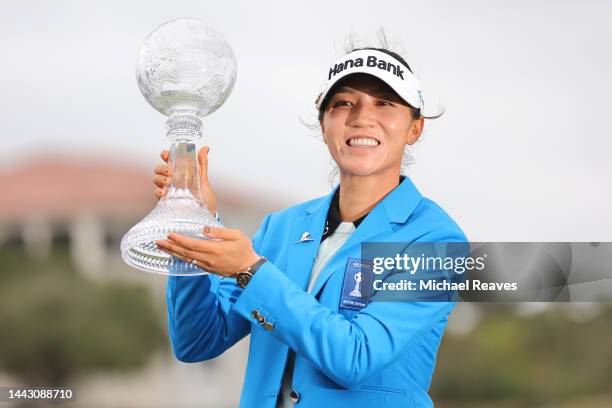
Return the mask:
<svg viewBox="0 0 612 408">
<path fill-rule="evenodd" d="M 340 307 L 361 310 L 372 296 L 372 261 L 349 258 L 344 271 L 344 283 L 340 296 Z"/>
</svg>

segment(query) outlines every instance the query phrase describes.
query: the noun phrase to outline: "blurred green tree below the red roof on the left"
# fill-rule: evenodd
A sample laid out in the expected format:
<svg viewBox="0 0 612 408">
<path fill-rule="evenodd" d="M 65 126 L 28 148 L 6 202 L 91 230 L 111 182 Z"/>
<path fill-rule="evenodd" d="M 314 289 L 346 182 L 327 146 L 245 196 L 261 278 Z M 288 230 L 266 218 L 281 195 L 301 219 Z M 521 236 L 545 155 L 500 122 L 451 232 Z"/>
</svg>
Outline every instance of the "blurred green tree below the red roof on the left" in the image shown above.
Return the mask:
<svg viewBox="0 0 612 408">
<path fill-rule="evenodd" d="M 45 260 L 0 249 L 0 281 L 0 367 L 25 383 L 140 367 L 165 341 L 146 288 L 92 282 L 65 248 Z"/>
</svg>

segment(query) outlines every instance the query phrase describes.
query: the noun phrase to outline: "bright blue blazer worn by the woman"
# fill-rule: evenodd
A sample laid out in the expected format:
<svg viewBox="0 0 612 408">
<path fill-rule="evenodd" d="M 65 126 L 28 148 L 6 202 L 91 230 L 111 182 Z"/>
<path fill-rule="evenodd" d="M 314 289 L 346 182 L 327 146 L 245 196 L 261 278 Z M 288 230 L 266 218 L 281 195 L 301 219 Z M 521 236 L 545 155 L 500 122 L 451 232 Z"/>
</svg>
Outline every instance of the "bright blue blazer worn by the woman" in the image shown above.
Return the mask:
<svg viewBox="0 0 612 408">
<path fill-rule="evenodd" d="M 338 187 L 336 187 L 338 188 Z M 296 407 L 431 407 L 436 352 L 455 302 L 339 308 L 362 242 L 467 242 L 410 178 L 381 200 L 306 292 L 334 195 L 268 214 L 253 236 L 268 258 L 245 289 L 216 275 L 168 279 L 169 332 L 180 361 L 217 357 L 250 334 L 240 407 L 274 408 L 289 349 Z M 308 231 L 312 240 L 298 242 Z"/>
</svg>

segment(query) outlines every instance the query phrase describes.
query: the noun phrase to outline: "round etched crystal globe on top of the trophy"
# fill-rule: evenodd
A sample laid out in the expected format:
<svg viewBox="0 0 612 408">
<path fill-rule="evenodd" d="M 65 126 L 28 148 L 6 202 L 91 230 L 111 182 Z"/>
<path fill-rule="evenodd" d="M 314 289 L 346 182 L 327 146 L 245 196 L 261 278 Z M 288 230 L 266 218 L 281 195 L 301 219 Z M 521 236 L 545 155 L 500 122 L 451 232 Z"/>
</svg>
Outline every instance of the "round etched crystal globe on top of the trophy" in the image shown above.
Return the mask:
<svg viewBox="0 0 612 408">
<path fill-rule="evenodd" d="M 145 99 L 161 113 L 206 116 L 232 91 L 236 60 L 221 33 L 198 20 L 178 19 L 145 39 L 136 79 Z"/>
</svg>

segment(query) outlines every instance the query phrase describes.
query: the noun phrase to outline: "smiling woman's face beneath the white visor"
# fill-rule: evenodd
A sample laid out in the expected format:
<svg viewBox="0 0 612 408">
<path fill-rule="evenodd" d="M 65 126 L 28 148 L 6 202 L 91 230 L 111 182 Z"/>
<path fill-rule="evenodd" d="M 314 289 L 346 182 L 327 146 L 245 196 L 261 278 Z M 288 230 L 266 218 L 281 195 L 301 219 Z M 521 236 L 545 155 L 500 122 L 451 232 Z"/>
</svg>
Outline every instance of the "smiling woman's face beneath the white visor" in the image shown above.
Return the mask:
<svg viewBox="0 0 612 408">
<path fill-rule="evenodd" d="M 322 105 L 321 129 L 341 174 L 397 173 L 390 177 L 397 180 L 404 148 L 420 137 L 424 119 L 414 119 L 414 108 L 376 77 L 354 74 L 340 83 Z"/>
</svg>

